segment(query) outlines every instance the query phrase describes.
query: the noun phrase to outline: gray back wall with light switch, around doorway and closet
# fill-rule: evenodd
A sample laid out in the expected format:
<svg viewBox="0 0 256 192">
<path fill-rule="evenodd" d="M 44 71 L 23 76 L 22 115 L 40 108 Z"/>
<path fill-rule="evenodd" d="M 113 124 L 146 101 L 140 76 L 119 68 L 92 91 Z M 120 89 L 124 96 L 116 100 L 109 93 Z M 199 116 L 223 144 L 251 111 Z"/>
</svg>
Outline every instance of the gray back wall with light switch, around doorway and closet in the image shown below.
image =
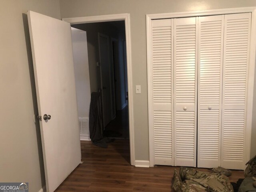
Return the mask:
<svg viewBox="0 0 256 192">
<path fill-rule="evenodd" d="M 185 12 L 256 6 L 255 0 L 60 0 L 62 18 L 130 13 L 132 43 L 132 80 L 141 85 L 141 94 L 134 90 L 135 159 L 148 160 L 148 101 L 146 65 L 146 14 Z M 256 95 L 256 94 L 255 94 Z M 256 107 L 256 100 L 254 100 Z M 254 107 L 254 109 L 255 109 Z M 254 110 L 254 116 L 256 111 Z M 256 122 L 253 123 L 255 134 Z M 255 137 L 255 135 L 252 135 Z M 252 154 L 256 154 L 252 140 Z"/>
</svg>

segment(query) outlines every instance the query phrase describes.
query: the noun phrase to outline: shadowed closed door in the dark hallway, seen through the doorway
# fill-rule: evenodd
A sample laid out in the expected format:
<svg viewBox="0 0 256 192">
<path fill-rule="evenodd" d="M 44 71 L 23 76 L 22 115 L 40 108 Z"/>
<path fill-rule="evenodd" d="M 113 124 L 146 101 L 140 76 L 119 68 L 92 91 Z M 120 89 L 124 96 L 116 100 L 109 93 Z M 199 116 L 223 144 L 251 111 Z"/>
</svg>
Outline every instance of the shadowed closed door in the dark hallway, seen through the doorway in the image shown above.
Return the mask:
<svg viewBox="0 0 256 192">
<path fill-rule="evenodd" d="M 101 86 L 102 86 L 102 107 L 103 107 L 103 124 L 104 127 L 112 119 L 112 95 L 111 95 L 111 79 L 110 79 L 110 62 L 109 62 L 109 42 L 108 36 L 99 34 L 100 49 L 100 70 L 101 70 Z"/>
</svg>

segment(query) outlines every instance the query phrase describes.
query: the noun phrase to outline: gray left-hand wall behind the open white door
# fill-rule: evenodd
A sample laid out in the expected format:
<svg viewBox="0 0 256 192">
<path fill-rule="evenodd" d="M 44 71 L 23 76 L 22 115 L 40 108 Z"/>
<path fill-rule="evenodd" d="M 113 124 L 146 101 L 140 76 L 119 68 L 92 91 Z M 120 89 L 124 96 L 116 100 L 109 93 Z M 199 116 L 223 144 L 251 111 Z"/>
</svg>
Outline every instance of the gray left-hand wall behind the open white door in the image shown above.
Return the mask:
<svg viewBox="0 0 256 192">
<path fill-rule="evenodd" d="M 0 181 L 45 185 L 27 11 L 60 19 L 58 0 L 0 0 Z"/>
</svg>

